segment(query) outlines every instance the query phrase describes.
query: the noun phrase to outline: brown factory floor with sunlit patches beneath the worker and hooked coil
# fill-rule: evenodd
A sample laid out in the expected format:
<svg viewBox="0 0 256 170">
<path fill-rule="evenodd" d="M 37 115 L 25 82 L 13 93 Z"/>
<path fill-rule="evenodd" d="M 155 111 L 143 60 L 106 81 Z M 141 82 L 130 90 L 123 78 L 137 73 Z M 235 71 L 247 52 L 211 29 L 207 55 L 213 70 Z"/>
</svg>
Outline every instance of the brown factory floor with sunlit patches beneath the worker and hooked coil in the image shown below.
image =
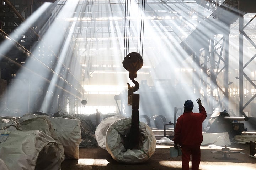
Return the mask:
<svg viewBox="0 0 256 170">
<path fill-rule="evenodd" d="M 163 130 L 153 130 L 156 139 L 161 139 Z M 167 130 L 167 136 L 173 135 Z M 62 170 L 182 170 L 181 156 L 170 157 L 173 145 L 157 145 L 154 154 L 145 163 L 123 164 L 116 162 L 111 155 L 100 147 L 80 148 L 78 160 L 64 160 Z M 199 170 L 256 170 L 256 158 L 249 156 L 249 144 L 232 144 L 228 146 L 231 154 L 212 153 L 220 149 L 201 146 L 201 163 Z M 236 152 L 241 151 L 241 152 Z M 190 162 L 191 168 L 191 162 Z"/>
</svg>

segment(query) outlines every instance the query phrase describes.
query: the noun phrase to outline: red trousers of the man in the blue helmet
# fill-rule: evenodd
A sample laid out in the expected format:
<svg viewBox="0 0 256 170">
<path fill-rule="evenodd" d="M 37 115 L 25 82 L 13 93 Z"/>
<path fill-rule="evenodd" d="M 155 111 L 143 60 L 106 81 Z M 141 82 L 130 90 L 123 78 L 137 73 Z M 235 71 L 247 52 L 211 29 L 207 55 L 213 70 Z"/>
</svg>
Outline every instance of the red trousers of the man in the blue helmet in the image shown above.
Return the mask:
<svg viewBox="0 0 256 170">
<path fill-rule="evenodd" d="M 189 161 L 190 161 L 190 154 L 191 154 L 191 164 L 192 170 L 198 170 L 200 164 L 200 145 L 192 145 L 192 146 L 181 146 L 181 160 L 182 160 L 182 170 L 189 170 Z"/>
</svg>

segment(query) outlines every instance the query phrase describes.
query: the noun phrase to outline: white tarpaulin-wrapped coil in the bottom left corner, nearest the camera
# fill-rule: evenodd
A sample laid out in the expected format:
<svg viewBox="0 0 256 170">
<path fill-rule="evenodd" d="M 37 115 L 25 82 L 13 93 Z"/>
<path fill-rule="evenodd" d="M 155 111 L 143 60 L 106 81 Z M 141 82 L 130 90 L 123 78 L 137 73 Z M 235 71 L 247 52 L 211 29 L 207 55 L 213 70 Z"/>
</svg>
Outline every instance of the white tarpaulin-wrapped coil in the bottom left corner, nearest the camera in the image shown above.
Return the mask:
<svg viewBox="0 0 256 170">
<path fill-rule="evenodd" d="M 0 159 L 8 170 L 60 170 L 62 162 L 58 143 L 41 131 L 10 131 L 0 143 Z"/>
</svg>

